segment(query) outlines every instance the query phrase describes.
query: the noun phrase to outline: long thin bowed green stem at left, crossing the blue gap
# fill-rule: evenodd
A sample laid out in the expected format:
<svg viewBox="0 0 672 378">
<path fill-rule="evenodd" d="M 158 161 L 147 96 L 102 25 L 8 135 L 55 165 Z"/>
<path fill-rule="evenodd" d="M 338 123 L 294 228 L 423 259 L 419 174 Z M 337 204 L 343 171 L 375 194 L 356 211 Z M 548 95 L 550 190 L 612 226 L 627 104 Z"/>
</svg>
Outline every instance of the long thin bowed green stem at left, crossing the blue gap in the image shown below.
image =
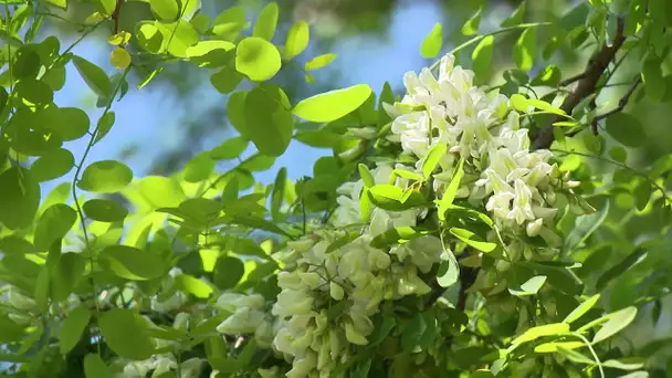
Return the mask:
<svg viewBox="0 0 672 378">
<path fill-rule="evenodd" d="M 101 118 L 104 117 L 112 108 L 114 98 L 117 96 L 117 93 L 122 88 L 122 84 L 126 80 L 126 75 L 128 75 L 129 71 L 130 71 L 130 66 L 128 66 L 124 71 L 124 74 L 122 75 L 122 80 L 119 80 L 119 82 L 117 83 L 117 86 L 114 88 L 114 92 L 112 93 L 112 96 L 109 96 L 109 99 L 107 101 L 107 106 L 105 106 L 105 111 L 103 111 L 103 115 L 101 116 Z M 86 148 L 84 149 L 84 154 L 82 155 L 82 158 L 80 159 L 80 162 L 76 166 L 77 169 L 75 170 L 75 176 L 72 180 L 72 198 L 75 202 L 75 208 L 76 208 L 77 214 L 80 217 L 80 222 L 82 223 L 82 231 L 84 233 L 84 243 L 86 244 L 86 250 L 88 251 L 88 263 L 91 266 L 91 274 L 92 274 L 91 286 L 92 286 L 92 291 L 93 291 L 93 301 L 94 301 L 94 305 L 95 305 L 97 315 L 101 313 L 101 307 L 98 304 L 96 283 L 93 277 L 95 259 L 93 255 L 93 250 L 91 249 L 91 243 L 90 243 L 90 239 L 88 239 L 88 231 L 86 230 L 84 212 L 82 211 L 82 206 L 80 204 L 80 199 L 77 198 L 77 182 L 80 181 L 80 174 L 82 172 L 82 169 L 84 167 L 84 161 L 86 161 L 86 157 L 88 156 L 91 148 L 93 147 L 93 145 L 96 141 L 96 136 L 98 135 L 98 125 L 99 125 L 99 123 L 96 124 L 95 129 L 93 130 L 93 133 L 91 133 L 91 138 L 88 138 L 88 144 L 86 145 Z M 101 355 L 101 340 L 98 340 L 97 347 L 98 347 L 98 355 Z"/>
</svg>

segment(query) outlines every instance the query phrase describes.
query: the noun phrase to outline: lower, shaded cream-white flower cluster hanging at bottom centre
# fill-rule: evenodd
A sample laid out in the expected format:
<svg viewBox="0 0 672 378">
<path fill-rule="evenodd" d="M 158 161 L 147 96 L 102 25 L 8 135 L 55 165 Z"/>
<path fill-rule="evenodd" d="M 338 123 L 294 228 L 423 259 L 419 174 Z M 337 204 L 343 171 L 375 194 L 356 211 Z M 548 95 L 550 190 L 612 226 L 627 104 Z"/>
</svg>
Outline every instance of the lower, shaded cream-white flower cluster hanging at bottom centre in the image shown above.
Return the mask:
<svg viewBox="0 0 672 378">
<path fill-rule="evenodd" d="M 350 345 L 368 344 L 382 301 L 431 291 L 419 274 L 441 260 L 439 239 L 420 237 L 386 251 L 363 234 L 327 252 L 342 235 L 322 231 L 290 243 L 291 269 L 279 274 L 282 292 L 273 306 L 280 318 L 273 347 L 293 361 L 287 377 L 328 377 L 350 358 Z"/>
</svg>

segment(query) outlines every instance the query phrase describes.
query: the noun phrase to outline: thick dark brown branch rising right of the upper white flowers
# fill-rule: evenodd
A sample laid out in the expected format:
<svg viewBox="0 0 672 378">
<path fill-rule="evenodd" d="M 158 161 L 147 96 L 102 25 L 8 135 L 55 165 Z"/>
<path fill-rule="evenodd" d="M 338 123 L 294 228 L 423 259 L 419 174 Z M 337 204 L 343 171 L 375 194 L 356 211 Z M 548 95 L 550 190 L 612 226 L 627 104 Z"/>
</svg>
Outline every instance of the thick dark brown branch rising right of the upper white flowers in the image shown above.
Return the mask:
<svg viewBox="0 0 672 378">
<path fill-rule="evenodd" d="M 565 99 L 561 108 L 567 114 L 571 114 L 571 111 L 586 97 L 590 96 L 595 93 L 597 87 L 597 83 L 600 77 L 609 66 L 609 63 L 613 61 L 616 53 L 626 42 L 626 36 L 623 35 L 623 29 L 626 25 L 626 21 L 622 18 L 618 19 L 616 38 L 613 39 L 613 43 L 608 45 L 605 43 L 601 49 L 590 59 L 588 62 L 588 66 L 582 74 L 579 74 L 571 80 L 578 78 L 578 83 L 571 93 Z M 539 148 L 548 148 L 553 143 L 553 124 L 560 120 L 560 117 L 557 117 L 549 122 L 539 133 L 537 134 L 533 147 L 534 149 Z"/>
</svg>

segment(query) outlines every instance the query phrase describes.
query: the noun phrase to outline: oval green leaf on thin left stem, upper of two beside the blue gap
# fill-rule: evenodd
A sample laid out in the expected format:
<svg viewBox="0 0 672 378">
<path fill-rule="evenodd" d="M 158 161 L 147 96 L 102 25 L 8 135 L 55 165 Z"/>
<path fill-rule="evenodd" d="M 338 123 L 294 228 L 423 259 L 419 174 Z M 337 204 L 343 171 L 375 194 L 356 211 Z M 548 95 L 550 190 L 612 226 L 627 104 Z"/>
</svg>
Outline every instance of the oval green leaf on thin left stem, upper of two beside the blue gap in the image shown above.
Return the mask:
<svg viewBox="0 0 672 378">
<path fill-rule="evenodd" d="M 133 171 L 116 160 L 96 161 L 82 174 L 77 187 L 98 193 L 114 193 L 124 189 L 133 180 Z"/>
</svg>

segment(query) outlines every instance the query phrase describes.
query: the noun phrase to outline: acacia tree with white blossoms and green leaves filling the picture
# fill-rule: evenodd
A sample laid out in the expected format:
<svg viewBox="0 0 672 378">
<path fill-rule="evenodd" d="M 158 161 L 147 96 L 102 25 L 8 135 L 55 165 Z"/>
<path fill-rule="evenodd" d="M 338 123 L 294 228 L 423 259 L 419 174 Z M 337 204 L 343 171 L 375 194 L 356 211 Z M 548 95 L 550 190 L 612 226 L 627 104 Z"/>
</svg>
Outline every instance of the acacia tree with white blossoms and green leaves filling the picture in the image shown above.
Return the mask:
<svg viewBox="0 0 672 378">
<path fill-rule="evenodd" d="M 301 101 L 272 78 L 303 70 L 311 81 L 334 55 L 297 64 L 309 27 L 275 36 L 277 4 L 250 23 L 241 7 L 209 20 L 198 2 L 151 0 L 154 19 L 126 31 L 124 3 L 94 1 L 75 42 L 107 28 L 111 76 L 74 44 L 35 40 L 45 18 L 84 4 L 4 1 L 3 375 L 664 376 L 664 340 L 640 347 L 622 334 L 649 304 L 660 317 L 670 280 L 672 159 L 628 166 L 644 134 L 626 112 L 665 95 L 664 0 L 594 0 L 534 23 L 522 3 L 481 34 L 480 9 L 447 54 L 434 25 L 420 51 L 435 63 L 407 73 L 405 93 L 360 84 Z M 475 86 L 512 33 L 515 69 Z M 568 46 L 590 59 L 566 77 L 550 62 Z M 605 109 L 624 56 L 641 72 Z M 239 135 L 172 176 L 90 161 L 115 132 L 127 75 L 159 63 L 141 91 L 176 61 L 211 72 Z M 69 64 L 98 97 L 93 122 L 53 102 Z M 63 143 L 77 139 L 75 157 Z M 313 177 L 294 182 L 282 168 L 255 183 L 292 139 L 334 154 Z M 250 144 L 256 153 L 239 158 Z M 42 196 L 41 182 L 71 171 Z M 627 212 L 611 210 L 623 201 Z M 653 227 L 619 230 L 644 221 Z"/>
</svg>

